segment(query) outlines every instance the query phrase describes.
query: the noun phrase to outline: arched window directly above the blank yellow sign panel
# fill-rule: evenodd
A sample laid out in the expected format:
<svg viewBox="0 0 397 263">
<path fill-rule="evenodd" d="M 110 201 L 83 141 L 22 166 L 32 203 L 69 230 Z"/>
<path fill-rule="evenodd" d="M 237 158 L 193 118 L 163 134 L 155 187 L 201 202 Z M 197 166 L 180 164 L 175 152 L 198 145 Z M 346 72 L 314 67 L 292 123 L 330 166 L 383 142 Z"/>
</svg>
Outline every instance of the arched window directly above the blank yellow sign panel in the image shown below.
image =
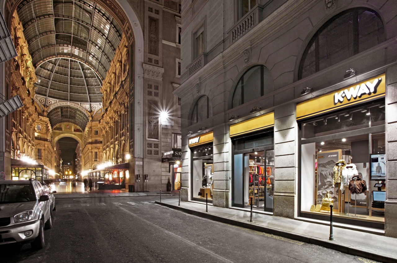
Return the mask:
<svg viewBox="0 0 397 263">
<path fill-rule="evenodd" d="M 232 108 L 271 91 L 273 91 L 273 80 L 270 71 L 263 65 L 254 66 L 247 70 L 237 83 L 233 93 Z"/>
</svg>

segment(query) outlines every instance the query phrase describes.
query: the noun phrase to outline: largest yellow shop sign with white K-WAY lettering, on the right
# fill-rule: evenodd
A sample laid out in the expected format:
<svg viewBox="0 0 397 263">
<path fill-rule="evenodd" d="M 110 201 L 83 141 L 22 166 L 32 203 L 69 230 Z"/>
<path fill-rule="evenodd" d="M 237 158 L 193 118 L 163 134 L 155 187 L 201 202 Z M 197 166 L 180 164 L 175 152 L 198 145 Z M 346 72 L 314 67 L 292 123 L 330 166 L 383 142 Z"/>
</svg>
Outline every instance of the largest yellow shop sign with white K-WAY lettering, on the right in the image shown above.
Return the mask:
<svg viewBox="0 0 397 263">
<path fill-rule="evenodd" d="M 297 120 L 385 96 L 385 74 L 297 104 Z"/>
</svg>

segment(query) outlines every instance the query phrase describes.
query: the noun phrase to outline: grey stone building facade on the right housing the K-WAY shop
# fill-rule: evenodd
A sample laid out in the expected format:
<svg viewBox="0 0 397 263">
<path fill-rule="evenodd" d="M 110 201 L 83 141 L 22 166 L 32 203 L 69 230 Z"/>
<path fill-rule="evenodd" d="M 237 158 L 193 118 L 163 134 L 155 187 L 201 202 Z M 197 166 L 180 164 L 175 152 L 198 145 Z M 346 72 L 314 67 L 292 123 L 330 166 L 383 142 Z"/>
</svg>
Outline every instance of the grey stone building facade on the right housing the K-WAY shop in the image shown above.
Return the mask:
<svg viewBox="0 0 397 263">
<path fill-rule="evenodd" d="M 181 199 L 326 221 L 330 194 L 335 220 L 397 236 L 394 5 L 182 2 Z"/>
</svg>

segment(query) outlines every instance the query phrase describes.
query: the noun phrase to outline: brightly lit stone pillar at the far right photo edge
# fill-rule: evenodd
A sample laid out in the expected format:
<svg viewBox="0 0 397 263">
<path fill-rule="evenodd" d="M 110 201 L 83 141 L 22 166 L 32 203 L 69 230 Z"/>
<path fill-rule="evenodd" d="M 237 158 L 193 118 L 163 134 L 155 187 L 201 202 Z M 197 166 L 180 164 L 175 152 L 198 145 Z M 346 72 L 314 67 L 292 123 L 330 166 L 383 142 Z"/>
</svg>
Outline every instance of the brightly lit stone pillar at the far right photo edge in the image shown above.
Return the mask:
<svg viewBox="0 0 397 263">
<path fill-rule="evenodd" d="M 397 66 L 386 71 L 385 235 L 397 237 Z"/>
</svg>

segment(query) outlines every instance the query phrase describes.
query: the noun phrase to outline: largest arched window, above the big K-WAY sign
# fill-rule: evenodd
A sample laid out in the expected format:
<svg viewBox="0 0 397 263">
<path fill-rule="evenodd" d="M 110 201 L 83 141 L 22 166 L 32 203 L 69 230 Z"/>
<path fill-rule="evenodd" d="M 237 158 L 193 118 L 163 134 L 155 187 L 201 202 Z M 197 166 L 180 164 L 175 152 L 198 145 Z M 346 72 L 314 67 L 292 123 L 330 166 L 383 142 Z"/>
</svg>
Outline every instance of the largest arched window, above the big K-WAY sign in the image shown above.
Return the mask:
<svg viewBox="0 0 397 263">
<path fill-rule="evenodd" d="M 385 41 L 378 13 L 354 8 L 328 20 L 310 40 L 299 65 L 302 79 Z"/>
</svg>

